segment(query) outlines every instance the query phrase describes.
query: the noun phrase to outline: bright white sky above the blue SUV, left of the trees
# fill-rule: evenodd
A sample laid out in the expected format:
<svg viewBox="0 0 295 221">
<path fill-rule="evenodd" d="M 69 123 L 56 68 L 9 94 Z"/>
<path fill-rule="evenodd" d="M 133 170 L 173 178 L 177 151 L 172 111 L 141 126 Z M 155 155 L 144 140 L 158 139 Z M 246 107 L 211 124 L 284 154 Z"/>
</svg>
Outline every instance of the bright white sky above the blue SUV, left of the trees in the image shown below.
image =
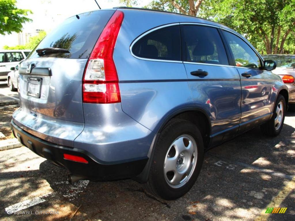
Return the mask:
<svg viewBox="0 0 295 221">
<path fill-rule="evenodd" d="M 119 0 L 96 0 L 102 9 L 122 6 Z M 138 7 L 147 5 L 151 0 L 138 1 Z M 23 32 L 33 32 L 35 29 L 44 29 L 47 33 L 54 29 L 64 19 L 86 11 L 99 9 L 94 0 L 17 0 L 17 7 L 30 9 L 33 14 L 28 17 L 33 21 L 23 25 Z M 0 49 L 4 45 L 15 46 L 17 34 L 1 35 Z"/>
</svg>

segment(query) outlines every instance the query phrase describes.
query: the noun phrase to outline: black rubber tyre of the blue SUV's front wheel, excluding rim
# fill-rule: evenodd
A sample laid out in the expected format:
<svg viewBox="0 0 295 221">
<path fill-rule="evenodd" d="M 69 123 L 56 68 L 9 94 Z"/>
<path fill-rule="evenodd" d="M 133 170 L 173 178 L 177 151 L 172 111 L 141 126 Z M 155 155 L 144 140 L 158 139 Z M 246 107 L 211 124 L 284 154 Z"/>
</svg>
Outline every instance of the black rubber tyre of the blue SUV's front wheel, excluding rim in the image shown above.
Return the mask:
<svg viewBox="0 0 295 221">
<path fill-rule="evenodd" d="M 282 113 L 283 116 L 281 118 L 281 124 L 280 126 L 278 126 L 276 128 L 275 126 L 275 119 L 277 117 L 277 107 L 279 104 L 283 104 L 283 108 L 282 108 Z M 285 120 L 285 114 L 286 114 L 286 101 L 285 98 L 283 97 L 283 95 L 278 95 L 278 98 L 276 100 L 275 106 L 273 108 L 273 116 L 271 117 L 270 120 L 268 120 L 266 123 L 262 124 L 260 126 L 260 130 L 261 132 L 266 135 L 266 136 L 270 136 L 270 137 L 274 137 L 274 136 L 278 136 L 281 133 L 281 130 L 283 128 L 283 124 L 284 124 L 284 120 Z"/>
</svg>

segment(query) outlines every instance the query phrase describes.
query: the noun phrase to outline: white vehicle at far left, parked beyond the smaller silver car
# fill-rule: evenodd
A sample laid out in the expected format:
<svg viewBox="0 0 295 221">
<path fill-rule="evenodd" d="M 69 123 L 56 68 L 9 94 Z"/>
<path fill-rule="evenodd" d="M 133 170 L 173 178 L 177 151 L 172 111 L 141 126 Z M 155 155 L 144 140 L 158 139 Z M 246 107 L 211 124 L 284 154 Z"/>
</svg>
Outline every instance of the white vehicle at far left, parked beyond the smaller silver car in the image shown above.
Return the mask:
<svg viewBox="0 0 295 221">
<path fill-rule="evenodd" d="M 30 54 L 30 50 L 0 50 L 0 81 L 6 80 L 10 68 Z"/>
</svg>

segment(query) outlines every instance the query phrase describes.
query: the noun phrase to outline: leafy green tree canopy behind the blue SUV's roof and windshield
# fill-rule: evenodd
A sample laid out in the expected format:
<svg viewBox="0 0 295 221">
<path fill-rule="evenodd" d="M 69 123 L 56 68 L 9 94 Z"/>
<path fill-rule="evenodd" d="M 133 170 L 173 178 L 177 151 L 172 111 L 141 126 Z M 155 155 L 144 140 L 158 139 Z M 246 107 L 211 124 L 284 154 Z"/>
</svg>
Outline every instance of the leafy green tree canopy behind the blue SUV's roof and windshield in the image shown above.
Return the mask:
<svg viewBox="0 0 295 221">
<path fill-rule="evenodd" d="M 121 2 L 137 5 L 136 0 Z M 295 53 L 295 0 L 153 0 L 145 7 L 224 24 L 262 54 Z"/>
</svg>

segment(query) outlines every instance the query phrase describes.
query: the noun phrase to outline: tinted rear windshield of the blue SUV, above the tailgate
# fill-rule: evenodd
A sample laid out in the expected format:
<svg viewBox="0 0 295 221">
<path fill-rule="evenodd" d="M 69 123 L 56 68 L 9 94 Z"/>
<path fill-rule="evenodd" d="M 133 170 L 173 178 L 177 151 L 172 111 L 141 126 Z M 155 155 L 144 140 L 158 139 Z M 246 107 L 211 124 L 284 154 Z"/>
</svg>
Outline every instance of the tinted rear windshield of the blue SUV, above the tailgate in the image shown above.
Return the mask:
<svg viewBox="0 0 295 221">
<path fill-rule="evenodd" d="M 42 57 L 88 58 L 112 14 L 114 10 L 91 11 L 66 19 L 37 45 L 28 58 L 39 57 L 36 49 L 46 47 L 63 48 L 70 53 L 48 54 Z"/>
</svg>

